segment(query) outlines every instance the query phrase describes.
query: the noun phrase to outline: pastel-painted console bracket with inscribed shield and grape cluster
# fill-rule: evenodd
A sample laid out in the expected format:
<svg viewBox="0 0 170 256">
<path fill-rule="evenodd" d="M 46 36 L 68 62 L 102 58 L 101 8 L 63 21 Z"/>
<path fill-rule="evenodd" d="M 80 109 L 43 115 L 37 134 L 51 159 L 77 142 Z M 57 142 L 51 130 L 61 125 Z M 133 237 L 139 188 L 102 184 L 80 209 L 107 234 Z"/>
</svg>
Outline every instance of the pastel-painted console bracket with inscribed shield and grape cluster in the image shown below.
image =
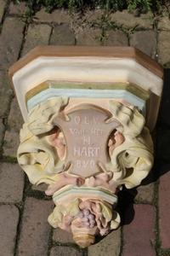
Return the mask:
<svg viewBox="0 0 170 256">
<path fill-rule="evenodd" d="M 48 184 L 49 224 L 88 247 L 119 226 L 122 185 L 139 185 L 153 165 L 161 67 L 133 48 L 48 46 L 9 74 L 25 119 L 19 164 Z"/>
</svg>

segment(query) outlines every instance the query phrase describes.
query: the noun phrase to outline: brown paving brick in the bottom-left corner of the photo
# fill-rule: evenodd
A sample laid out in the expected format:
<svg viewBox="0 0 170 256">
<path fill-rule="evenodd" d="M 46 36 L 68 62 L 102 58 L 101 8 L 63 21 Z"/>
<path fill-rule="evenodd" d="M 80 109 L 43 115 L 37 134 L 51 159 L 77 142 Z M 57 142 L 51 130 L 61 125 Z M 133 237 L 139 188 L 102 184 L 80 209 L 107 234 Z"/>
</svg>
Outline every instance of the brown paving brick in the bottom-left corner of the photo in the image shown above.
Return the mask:
<svg viewBox="0 0 170 256">
<path fill-rule="evenodd" d="M 19 210 L 14 206 L 0 206 L 0 255 L 13 256 L 19 221 Z"/>
</svg>

